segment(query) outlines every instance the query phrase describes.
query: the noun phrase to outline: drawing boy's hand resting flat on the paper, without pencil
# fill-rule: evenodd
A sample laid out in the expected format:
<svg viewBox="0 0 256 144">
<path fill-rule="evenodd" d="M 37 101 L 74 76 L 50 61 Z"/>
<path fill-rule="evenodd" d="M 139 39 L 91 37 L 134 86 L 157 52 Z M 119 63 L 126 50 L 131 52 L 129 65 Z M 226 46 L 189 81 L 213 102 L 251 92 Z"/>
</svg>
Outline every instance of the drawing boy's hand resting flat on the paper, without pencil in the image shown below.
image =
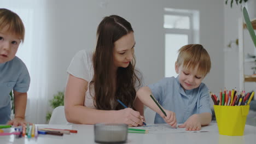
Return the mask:
<svg viewBox="0 0 256 144">
<path fill-rule="evenodd" d="M 199 115 L 194 114 L 190 116 L 185 123 L 179 125 L 179 128 L 186 128 L 189 131 L 201 130 Z"/>
</svg>

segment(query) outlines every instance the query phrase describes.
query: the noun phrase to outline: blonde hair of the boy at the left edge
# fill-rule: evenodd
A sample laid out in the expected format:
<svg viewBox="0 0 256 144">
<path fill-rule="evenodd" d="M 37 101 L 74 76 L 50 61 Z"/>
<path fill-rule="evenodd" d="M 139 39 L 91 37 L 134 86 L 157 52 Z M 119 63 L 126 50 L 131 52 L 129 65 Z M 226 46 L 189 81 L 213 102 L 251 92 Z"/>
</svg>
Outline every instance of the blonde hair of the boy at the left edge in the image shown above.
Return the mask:
<svg viewBox="0 0 256 144">
<path fill-rule="evenodd" d="M 8 27 L 7 31 L 17 35 L 21 41 L 24 41 L 25 27 L 19 15 L 8 9 L 0 9 L 0 31 Z"/>
</svg>

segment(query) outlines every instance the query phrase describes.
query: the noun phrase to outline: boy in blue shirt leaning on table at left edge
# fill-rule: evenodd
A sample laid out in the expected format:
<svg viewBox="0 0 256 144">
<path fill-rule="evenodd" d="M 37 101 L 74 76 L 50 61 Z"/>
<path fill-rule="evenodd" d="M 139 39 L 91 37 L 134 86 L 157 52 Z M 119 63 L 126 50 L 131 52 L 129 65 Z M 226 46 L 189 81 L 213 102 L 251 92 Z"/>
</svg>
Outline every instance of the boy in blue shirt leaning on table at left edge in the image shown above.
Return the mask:
<svg viewBox="0 0 256 144">
<path fill-rule="evenodd" d="M 20 17 L 8 9 L 0 9 L 0 124 L 26 124 L 25 110 L 30 75 L 26 65 L 15 54 L 24 41 L 25 28 Z M 14 119 L 10 119 L 9 93 L 14 93 Z"/>
</svg>

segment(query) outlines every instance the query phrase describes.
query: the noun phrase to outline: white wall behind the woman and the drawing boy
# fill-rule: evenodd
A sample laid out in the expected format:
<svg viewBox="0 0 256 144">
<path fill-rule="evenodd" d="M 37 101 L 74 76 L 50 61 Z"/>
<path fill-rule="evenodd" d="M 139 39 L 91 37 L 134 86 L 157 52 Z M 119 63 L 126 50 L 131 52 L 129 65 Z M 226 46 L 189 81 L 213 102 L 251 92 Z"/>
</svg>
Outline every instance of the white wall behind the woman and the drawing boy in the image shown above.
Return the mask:
<svg viewBox="0 0 256 144">
<path fill-rule="evenodd" d="M 27 7 L 32 0 L 23 0 L 15 7 Z M 30 3 L 29 3 L 30 2 Z M 200 44 L 211 56 L 212 69 L 204 82 L 213 92 L 224 87 L 224 10 L 223 1 L 212 0 L 96 0 L 46 2 L 45 25 L 48 37 L 45 57 L 48 92 L 51 99 L 66 86 L 66 69 L 75 53 L 94 49 L 96 28 L 104 16 L 117 14 L 128 20 L 136 39 L 136 66 L 144 74 L 146 84 L 164 77 L 164 8 L 200 11 Z M 23 5 L 23 6 L 18 6 Z M 1 6 L 1 4 L 0 4 Z M 232 31 L 232 30 L 231 30 Z M 42 61 L 45 61 L 42 59 Z M 33 79 L 34 77 L 32 77 Z"/>
</svg>

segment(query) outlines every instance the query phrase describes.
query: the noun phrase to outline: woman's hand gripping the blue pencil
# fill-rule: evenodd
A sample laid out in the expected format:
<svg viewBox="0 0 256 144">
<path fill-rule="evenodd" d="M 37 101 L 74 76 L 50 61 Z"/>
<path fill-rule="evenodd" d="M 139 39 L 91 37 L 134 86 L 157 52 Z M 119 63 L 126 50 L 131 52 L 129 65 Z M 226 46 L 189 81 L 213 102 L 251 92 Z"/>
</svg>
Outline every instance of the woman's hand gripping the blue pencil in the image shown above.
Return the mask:
<svg viewBox="0 0 256 144">
<path fill-rule="evenodd" d="M 138 111 L 126 108 L 119 110 L 117 114 L 117 123 L 125 123 L 129 127 L 137 127 L 143 125 L 144 117 Z"/>
</svg>

